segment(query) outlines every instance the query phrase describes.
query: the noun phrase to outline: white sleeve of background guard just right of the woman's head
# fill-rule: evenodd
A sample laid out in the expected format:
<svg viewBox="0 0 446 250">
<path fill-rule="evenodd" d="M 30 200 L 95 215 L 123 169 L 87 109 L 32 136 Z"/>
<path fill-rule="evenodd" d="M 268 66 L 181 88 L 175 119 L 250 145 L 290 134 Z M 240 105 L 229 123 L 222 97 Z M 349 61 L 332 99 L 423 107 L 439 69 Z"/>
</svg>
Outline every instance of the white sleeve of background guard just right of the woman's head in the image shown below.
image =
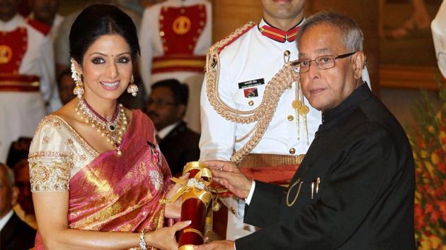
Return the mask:
<svg viewBox="0 0 446 250">
<path fill-rule="evenodd" d="M 142 15 L 141 26 L 139 28 L 139 46 L 141 47 L 141 56 L 139 60 L 139 73 L 141 73 L 142 82 L 146 88 L 147 95 L 150 93 L 150 75 L 151 75 L 151 61 L 153 58 L 153 51 L 151 47 L 151 16 L 154 15 L 151 8 L 146 8 Z"/>
</svg>

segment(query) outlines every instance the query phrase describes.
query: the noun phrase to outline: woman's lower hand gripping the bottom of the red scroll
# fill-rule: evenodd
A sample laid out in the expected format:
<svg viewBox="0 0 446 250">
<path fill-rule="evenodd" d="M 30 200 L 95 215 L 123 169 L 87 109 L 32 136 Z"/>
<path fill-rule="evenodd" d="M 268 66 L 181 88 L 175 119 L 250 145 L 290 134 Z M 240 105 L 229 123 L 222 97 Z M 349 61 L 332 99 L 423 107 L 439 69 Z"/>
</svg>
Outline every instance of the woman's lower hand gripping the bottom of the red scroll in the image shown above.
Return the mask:
<svg viewBox="0 0 446 250">
<path fill-rule="evenodd" d="M 147 246 L 154 246 L 157 249 L 163 250 L 178 249 L 175 233 L 190 225 L 190 222 L 190 220 L 178 222 L 171 227 L 162 227 L 159 230 L 146 234 Z"/>
</svg>

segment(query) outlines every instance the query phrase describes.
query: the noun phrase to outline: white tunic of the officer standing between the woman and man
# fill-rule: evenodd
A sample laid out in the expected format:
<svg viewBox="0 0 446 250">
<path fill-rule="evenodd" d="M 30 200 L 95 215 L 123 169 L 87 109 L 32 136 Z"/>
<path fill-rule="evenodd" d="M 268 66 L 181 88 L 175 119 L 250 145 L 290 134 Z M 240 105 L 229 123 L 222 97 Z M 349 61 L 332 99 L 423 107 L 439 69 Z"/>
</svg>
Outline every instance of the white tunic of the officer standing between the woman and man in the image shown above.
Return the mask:
<svg viewBox="0 0 446 250">
<path fill-rule="evenodd" d="M 264 25 L 268 24 L 261 20 L 261 23 L 228 44 L 219 54 L 219 97 L 234 109 L 250 110 L 261 104 L 268 81 L 284 65 L 285 51 L 290 52 L 291 61 L 297 59 L 297 44 L 294 39 L 291 42 L 278 42 L 266 37 L 261 33 Z M 368 76 L 365 81 L 368 82 Z M 249 91 L 253 95 L 246 95 L 248 88 L 255 88 Z M 321 124 L 321 112 L 305 100 L 309 107 L 307 133 L 302 117 L 299 119 L 300 124 L 297 123 L 296 112 L 292 107 L 296 98 L 296 86 L 293 84 L 280 97 L 268 129 L 251 153 L 301 155 L 307 152 L 314 133 Z M 245 136 L 255 125 L 236 124 L 217 114 L 207 98 L 205 83 L 202 85 L 201 114 L 200 160 L 229 160 L 234 150 L 245 145 L 250 136 L 243 141 L 236 142 L 236 139 Z M 300 134 L 297 134 L 297 126 L 300 126 Z M 232 213 L 228 214 L 227 239 L 244 237 L 254 230 L 243 223 L 244 204 L 239 203 L 238 209 L 236 214 L 240 219 Z"/>
</svg>

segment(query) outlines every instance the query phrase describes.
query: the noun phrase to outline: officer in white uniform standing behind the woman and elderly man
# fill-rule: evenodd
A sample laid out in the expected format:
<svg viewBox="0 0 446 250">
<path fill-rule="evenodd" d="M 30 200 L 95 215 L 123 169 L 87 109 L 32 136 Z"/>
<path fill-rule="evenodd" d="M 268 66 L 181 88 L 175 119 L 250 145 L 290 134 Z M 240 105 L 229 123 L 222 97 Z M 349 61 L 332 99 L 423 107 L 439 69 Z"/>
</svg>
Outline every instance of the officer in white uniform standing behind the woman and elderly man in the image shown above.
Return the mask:
<svg viewBox="0 0 446 250">
<path fill-rule="evenodd" d="M 308 105 L 295 83 L 282 92 L 269 124 L 258 143 L 248 146 L 251 150 L 247 155 L 246 145 L 252 144 L 248 141 L 256 136 L 260 122 L 243 124 L 227 119 L 211 103 L 224 102 L 246 117 L 243 112 L 256 109 L 265 101 L 265 88 L 273 76 L 285 62 L 297 59 L 295 35 L 304 22 L 304 2 L 262 0 L 260 23 L 245 25 L 226 42 L 214 45 L 219 52 L 219 77 L 215 80 L 220 100 L 210 102 L 210 79 L 205 78 L 201 93 L 200 160 L 233 160 L 239 162 L 248 177 L 276 184 L 286 184 L 294 175 L 321 124 L 321 113 Z M 370 86 L 366 70 L 363 80 Z M 262 109 L 268 106 L 271 105 Z M 237 208 L 230 199 L 225 201 L 233 212 L 228 215 L 227 239 L 253 232 L 252 227 L 243 224 L 244 203 L 239 202 Z"/>
</svg>

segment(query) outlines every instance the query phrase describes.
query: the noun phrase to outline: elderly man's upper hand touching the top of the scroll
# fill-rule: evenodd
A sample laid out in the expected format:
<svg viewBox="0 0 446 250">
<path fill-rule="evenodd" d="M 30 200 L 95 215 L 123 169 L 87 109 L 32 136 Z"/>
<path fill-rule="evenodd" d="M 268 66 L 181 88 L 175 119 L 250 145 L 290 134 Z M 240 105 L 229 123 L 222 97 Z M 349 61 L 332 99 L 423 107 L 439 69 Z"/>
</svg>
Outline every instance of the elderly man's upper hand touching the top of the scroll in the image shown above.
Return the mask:
<svg viewBox="0 0 446 250">
<path fill-rule="evenodd" d="M 234 162 L 210 160 L 203 163 L 212 170 L 214 180 L 229 189 L 232 194 L 239 198 L 248 197 L 253 181 L 240 172 Z"/>
</svg>

